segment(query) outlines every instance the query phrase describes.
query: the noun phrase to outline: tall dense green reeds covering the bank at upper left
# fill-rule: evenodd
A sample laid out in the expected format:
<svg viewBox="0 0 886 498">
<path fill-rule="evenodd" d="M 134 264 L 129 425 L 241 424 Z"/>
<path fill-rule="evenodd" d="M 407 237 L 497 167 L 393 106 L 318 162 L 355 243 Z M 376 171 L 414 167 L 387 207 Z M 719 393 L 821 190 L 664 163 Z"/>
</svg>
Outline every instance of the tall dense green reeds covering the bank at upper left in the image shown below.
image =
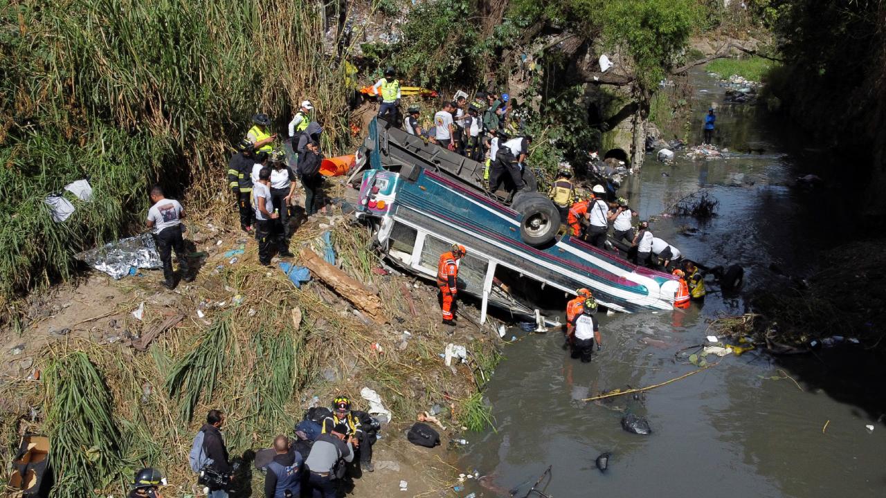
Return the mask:
<svg viewBox="0 0 886 498">
<path fill-rule="evenodd" d="M 253 113 L 284 132 L 292 103 L 310 98 L 340 138 L 344 70 L 324 54 L 318 5 L 3 3 L 0 299 L 71 276 L 73 253 L 136 230 L 152 183 L 197 200 L 222 191 Z M 43 197 L 82 177 L 96 199 L 51 222 Z"/>
</svg>

